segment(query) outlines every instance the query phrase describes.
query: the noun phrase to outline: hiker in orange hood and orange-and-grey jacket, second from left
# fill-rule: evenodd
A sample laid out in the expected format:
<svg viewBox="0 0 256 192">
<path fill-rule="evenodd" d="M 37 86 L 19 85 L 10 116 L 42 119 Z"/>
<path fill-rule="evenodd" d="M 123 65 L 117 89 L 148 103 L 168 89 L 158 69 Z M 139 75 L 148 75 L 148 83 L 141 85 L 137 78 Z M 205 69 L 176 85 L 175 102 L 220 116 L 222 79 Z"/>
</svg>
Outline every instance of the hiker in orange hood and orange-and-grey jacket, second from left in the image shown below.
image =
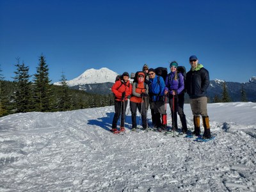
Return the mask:
<svg viewBox="0 0 256 192">
<path fill-rule="evenodd" d="M 134 81 L 132 83 L 132 96 L 130 99 L 130 108 L 132 113 L 132 131 L 136 131 L 136 113 L 139 109 L 142 119 L 143 129 L 147 129 L 147 97 L 148 97 L 148 85 L 145 83 L 145 73 L 136 72 Z"/>
</svg>

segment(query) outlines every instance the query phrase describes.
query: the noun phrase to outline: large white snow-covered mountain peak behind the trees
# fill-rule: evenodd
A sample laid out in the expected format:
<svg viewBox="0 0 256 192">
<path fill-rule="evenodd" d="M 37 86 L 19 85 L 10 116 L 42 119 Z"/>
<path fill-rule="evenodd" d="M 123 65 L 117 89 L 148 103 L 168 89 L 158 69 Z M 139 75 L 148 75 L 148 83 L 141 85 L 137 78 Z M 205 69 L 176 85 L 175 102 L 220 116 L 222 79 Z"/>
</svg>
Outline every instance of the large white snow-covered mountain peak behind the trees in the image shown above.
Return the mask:
<svg viewBox="0 0 256 192">
<path fill-rule="evenodd" d="M 106 67 L 100 68 L 99 70 L 91 68 L 75 79 L 67 81 L 67 84 L 68 86 L 76 86 L 79 84 L 115 83 L 116 76 L 116 72 L 113 72 Z M 60 85 L 60 82 L 54 84 Z"/>
</svg>

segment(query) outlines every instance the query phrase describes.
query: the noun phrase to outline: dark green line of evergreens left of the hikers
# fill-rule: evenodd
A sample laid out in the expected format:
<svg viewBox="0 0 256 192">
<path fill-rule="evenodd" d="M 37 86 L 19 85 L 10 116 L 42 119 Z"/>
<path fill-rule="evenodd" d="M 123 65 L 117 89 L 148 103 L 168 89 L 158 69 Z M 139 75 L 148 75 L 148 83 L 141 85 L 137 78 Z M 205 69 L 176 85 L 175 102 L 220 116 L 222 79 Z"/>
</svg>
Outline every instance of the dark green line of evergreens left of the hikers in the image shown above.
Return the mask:
<svg viewBox="0 0 256 192">
<path fill-rule="evenodd" d="M 61 86 L 51 84 L 49 67 L 43 55 L 39 58 L 33 82 L 29 67 L 17 58 L 12 81 L 4 81 L 0 69 L 0 116 L 29 111 L 68 111 L 113 105 L 113 95 L 95 95 L 68 88 L 62 73 Z"/>
</svg>

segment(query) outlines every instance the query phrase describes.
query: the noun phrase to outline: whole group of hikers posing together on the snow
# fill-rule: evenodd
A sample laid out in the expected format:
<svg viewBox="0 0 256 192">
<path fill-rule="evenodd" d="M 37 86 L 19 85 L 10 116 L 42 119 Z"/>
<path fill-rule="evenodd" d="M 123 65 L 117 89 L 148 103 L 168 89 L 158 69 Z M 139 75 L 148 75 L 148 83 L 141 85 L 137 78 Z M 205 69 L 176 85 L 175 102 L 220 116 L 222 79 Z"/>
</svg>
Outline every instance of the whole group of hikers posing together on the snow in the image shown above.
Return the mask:
<svg viewBox="0 0 256 192">
<path fill-rule="evenodd" d="M 187 133 L 186 115 L 184 114 L 184 94 L 187 92 L 193 113 L 193 134 L 200 136 L 200 115 L 204 125 L 203 138 L 211 138 L 209 116 L 207 115 L 206 90 L 209 86 L 209 72 L 198 63 L 198 58 L 189 57 L 191 69 L 186 74 L 186 81 L 182 73 L 177 71 L 177 61 L 170 63 L 170 73 L 163 79 L 157 76 L 154 68 L 148 68 L 145 64 L 143 70 L 136 72 L 134 81 L 129 81 L 129 73 L 124 72 L 118 81 L 113 84 L 111 90 L 115 95 L 115 115 L 113 117 L 112 132 L 118 132 L 116 124 L 121 115 L 119 131 L 125 131 L 125 111 L 128 97 L 132 115 L 132 131 L 137 129 L 136 112 L 141 113 L 143 129 L 147 129 L 147 110 L 151 111 L 152 124 L 157 131 L 167 131 L 166 104 L 169 102 L 172 111 L 172 130 L 178 129 L 177 113 L 182 124 L 182 132 Z"/>
</svg>

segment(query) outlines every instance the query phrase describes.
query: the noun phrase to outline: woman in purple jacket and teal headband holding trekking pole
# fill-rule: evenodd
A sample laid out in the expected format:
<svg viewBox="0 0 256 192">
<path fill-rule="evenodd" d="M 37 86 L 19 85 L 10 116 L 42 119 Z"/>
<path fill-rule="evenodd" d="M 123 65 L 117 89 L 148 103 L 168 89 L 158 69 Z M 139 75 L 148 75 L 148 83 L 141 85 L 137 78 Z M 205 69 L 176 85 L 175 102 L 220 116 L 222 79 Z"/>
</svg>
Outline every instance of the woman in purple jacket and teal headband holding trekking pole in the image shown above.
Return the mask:
<svg viewBox="0 0 256 192">
<path fill-rule="evenodd" d="M 182 132 L 186 133 L 188 131 L 186 115 L 184 114 L 184 77 L 181 73 L 177 72 L 178 63 L 176 61 L 172 61 L 170 63 L 170 74 L 166 77 L 165 80 L 165 94 L 169 95 L 169 104 L 172 111 L 172 129 L 173 131 L 178 129 L 177 124 L 177 112 L 180 116 L 180 122 L 182 124 Z M 173 104 L 174 97 L 174 104 Z M 173 105 L 174 105 L 174 113 L 173 113 Z"/>
</svg>

